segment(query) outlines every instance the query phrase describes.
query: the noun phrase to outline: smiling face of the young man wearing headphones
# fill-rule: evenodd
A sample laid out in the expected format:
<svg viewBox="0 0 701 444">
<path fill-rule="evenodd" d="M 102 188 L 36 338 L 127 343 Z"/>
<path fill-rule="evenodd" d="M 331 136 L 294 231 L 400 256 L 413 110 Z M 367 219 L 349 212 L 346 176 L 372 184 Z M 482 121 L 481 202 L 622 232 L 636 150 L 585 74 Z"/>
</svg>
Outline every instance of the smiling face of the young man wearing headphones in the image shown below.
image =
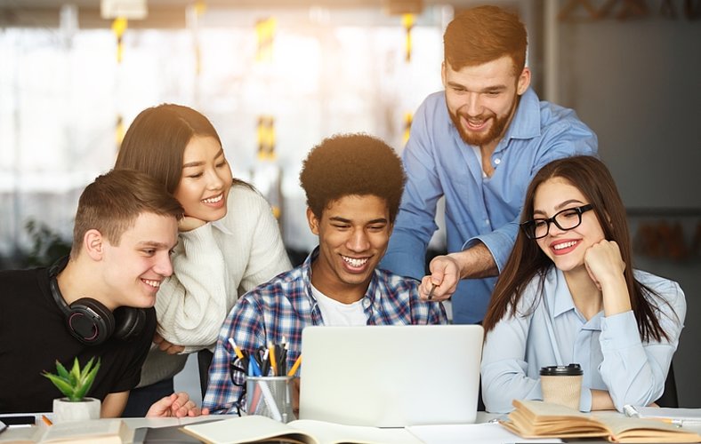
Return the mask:
<svg viewBox="0 0 701 444">
<path fill-rule="evenodd" d="M 173 274 L 170 251 L 178 240 L 178 223 L 170 216 L 141 213 L 134 225 L 112 245 L 102 238 L 102 281 L 110 309 L 150 307 L 161 281 Z"/>
</svg>

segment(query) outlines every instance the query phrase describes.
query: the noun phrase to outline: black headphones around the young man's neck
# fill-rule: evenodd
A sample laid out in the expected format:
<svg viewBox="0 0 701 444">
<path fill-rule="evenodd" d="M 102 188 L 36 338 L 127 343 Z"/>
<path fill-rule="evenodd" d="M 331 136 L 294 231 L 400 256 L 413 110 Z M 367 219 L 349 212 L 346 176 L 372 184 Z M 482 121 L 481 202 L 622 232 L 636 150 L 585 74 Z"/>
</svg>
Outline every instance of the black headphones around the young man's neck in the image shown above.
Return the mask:
<svg viewBox="0 0 701 444">
<path fill-rule="evenodd" d="M 66 316 L 66 325 L 73 337 L 85 345 L 100 345 L 112 336 L 131 341 L 141 335 L 146 325 L 146 310 L 142 308 L 121 306 L 112 313 L 92 297 L 81 297 L 71 305 L 66 304 L 56 279 L 66 265 L 68 256 L 49 267 L 49 287 L 53 300 Z"/>
</svg>

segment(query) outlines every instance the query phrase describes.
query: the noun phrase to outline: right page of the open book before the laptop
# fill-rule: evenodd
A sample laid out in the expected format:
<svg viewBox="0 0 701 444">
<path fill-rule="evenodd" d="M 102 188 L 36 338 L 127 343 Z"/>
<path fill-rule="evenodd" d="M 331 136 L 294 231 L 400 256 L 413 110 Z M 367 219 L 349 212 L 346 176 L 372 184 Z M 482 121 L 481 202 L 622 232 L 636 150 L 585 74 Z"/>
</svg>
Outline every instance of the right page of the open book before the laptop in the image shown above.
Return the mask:
<svg viewBox="0 0 701 444">
<path fill-rule="evenodd" d="M 288 424 L 295 429 L 308 432 L 319 444 L 422 444 L 414 435 L 404 428 L 379 428 L 358 425 L 345 425 L 299 419 Z"/>
</svg>

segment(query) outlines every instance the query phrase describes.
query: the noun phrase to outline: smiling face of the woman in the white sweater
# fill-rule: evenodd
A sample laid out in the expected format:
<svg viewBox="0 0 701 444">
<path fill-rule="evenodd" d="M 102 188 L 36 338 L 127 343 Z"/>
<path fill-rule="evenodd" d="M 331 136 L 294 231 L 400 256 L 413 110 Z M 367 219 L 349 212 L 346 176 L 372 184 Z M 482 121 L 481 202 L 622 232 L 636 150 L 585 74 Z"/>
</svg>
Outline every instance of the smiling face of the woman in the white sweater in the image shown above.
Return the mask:
<svg viewBox="0 0 701 444">
<path fill-rule="evenodd" d="M 181 179 L 173 195 L 181 202 L 185 216 L 212 222 L 226 216 L 231 181 L 219 142 L 193 136 L 182 154 Z"/>
</svg>

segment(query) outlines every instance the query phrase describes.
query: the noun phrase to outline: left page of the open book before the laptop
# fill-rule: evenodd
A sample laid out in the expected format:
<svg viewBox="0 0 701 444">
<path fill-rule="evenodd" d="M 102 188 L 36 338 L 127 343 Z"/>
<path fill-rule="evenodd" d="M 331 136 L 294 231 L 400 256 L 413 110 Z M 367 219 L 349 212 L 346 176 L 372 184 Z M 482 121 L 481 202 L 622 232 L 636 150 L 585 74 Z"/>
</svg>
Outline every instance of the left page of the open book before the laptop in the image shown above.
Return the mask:
<svg viewBox="0 0 701 444">
<path fill-rule="evenodd" d="M 214 423 L 189 424 L 182 431 L 212 443 L 242 443 L 276 438 L 288 442 L 319 444 L 307 434 L 266 416 L 241 416 Z"/>
</svg>

